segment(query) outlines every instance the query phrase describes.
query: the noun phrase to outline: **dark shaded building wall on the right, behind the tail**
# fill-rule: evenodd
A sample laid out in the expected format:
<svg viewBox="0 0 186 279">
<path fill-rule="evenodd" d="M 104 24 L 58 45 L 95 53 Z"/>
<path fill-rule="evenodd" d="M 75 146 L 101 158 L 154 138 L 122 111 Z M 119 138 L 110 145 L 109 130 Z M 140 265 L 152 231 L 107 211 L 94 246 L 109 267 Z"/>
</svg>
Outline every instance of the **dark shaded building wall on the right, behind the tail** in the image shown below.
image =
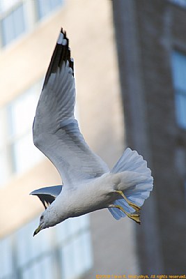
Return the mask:
<svg viewBox="0 0 186 279">
<path fill-rule="evenodd" d="M 127 144 L 155 189 L 137 227 L 141 273 L 186 271 L 186 1 L 113 1 Z"/>
</svg>

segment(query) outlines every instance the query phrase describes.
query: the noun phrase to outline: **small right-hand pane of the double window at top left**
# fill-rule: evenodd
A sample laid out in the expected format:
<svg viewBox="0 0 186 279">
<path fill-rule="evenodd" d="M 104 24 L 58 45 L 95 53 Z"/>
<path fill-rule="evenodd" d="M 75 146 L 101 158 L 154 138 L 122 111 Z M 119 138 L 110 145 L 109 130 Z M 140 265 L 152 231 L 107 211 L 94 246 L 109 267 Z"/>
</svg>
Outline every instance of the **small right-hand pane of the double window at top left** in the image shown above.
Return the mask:
<svg viewBox="0 0 186 279">
<path fill-rule="evenodd" d="M 63 0 L 36 0 L 36 7 L 38 10 L 38 19 L 45 17 L 63 3 Z"/>
</svg>

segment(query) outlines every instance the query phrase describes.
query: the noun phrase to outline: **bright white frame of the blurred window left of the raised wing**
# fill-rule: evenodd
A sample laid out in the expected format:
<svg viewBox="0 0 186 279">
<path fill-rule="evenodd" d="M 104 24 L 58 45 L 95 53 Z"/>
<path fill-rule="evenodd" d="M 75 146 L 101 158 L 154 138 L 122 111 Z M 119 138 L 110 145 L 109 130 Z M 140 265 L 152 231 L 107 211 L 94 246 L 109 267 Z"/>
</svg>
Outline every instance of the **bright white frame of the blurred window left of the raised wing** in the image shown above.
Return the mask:
<svg viewBox="0 0 186 279">
<path fill-rule="evenodd" d="M 0 181 L 0 187 L 2 187 L 4 184 L 6 184 L 6 182 L 9 181 L 9 179 L 11 179 L 14 175 L 21 175 L 24 172 L 28 171 L 29 169 L 31 169 L 34 165 L 36 165 L 40 160 L 42 160 L 42 158 L 44 158 L 44 155 L 36 148 L 36 146 L 34 146 L 33 144 L 33 140 L 32 140 L 32 125 L 33 125 L 33 118 L 36 112 L 36 106 L 38 103 L 38 98 L 40 96 L 40 91 L 42 88 L 42 80 L 40 79 L 38 82 L 36 82 L 35 84 L 33 84 L 32 86 L 29 87 L 29 89 L 27 89 L 26 91 L 22 92 L 19 96 L 17 96 L 16 98 L 14 98 L 13 100 L 10 101 L 10 103 L 6 104 L 4 107 L 1 108 L 1 114 L 3 115 L 3 132 L 2 135 L 3 136 L 3 143 L 0 146 L 0 156 L 1 154 L 4 154 L 4 157 L 0 157 L 0 159 L 2 158 L 3 165 L 5 165 L 5 169 L 7 169 L 7 174 L 5 176 L 5 179 L 3 179 L 2 181 Z M 30 116 L 30 119 L 28 121 L 29 125 L 28 127 L 25 128 L 25 130 L 23 131 L 23 133 L 20 134 L 15 134 L 12 132 L 13 129 L 13 120 L 15 118 L 15 115 L 12 114 L 13 112 L 13 106 L 14 104 L 19 105 L 19 102 L 23 102 L 28 100 L 27 98 L 29 98 L 30 96 L 32 96 L 31 98 L 33 98 L 34 102 L 33 102 L 33 112 L 31 112 L 31 114 L 33 114 L 32 116 Z M 27 104 L 28 105 L 28 104 Z M 30 103 L 29 103 L 30 105 Z M 18 161 L 18 157 L 16 157 L 16 152 L 18 151 L 17 149 L 17 144 L 19 144 L 20 141 L 26 140 L 27 137 L 27 143 L 29 143 L 29 141 L 31 141 L 31 149 L 34 151 L 35 156 L 34 158 L 31 158 L 30 160 L 26 161 L 26 164 L 24 164 L 24 167 L 21 167 L 21 158 L 19 156 L 19 161 Z M 29 140 L 28 140 L 29 137 Z M 30 146 L 30 145 L 29 145 Z M 29 149 L 30 150 L 30 149 Z M 24 156 L 24 153 L 22 153 Z M 29 153 L 28 153 L 28 159 L 29 159 Z M 18 163 L 18 165 L 17 165 Z"/>
</svg>

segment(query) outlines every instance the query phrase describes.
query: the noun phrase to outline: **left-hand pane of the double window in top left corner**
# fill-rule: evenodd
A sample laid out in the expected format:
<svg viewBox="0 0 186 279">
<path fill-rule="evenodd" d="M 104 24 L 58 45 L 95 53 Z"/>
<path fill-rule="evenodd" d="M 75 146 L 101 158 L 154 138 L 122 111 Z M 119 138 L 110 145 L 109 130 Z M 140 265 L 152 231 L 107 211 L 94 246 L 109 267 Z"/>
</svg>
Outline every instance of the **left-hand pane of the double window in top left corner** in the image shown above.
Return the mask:
<svg viewBox="0 0 186 279">
<path fill-rule="evenodd" d="M 6 1 L 1 1 L 5 3 Z M 13 4 L 8 1 L 9 6 Z M 1 4 L 2 5 L 2 4 Z M 9 6 L 1 6 L 1 10 L 9 8 Z M 26 31 L 26 22 L 24 19 L 24 4 L 16 5 L 10 11 L 6 11 L 5 15 L 1 18 L 1 45 L 8 45 L 11 41 L 18 38 Z"/>
</svg>

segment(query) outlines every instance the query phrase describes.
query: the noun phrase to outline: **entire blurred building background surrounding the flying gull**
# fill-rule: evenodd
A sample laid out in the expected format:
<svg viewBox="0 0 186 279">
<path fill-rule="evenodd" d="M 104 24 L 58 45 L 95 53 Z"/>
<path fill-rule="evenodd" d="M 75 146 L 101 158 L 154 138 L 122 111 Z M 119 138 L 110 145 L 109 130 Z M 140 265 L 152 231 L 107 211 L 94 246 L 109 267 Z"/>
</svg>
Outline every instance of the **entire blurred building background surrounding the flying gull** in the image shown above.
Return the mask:
<svg viewBox="0 0 186 279">
<path fill-rule="evenodd" d="M 109 167 L 130 146 L 153 171 L 141 226 L 104 209 L 32 237 L 29 193 L 61 183 L 31 135 L 61 27 L 86 141 Z M 185 273 L 186 1 L 0 0 L 0 46 L 0 279 Z"/>
</svg>

